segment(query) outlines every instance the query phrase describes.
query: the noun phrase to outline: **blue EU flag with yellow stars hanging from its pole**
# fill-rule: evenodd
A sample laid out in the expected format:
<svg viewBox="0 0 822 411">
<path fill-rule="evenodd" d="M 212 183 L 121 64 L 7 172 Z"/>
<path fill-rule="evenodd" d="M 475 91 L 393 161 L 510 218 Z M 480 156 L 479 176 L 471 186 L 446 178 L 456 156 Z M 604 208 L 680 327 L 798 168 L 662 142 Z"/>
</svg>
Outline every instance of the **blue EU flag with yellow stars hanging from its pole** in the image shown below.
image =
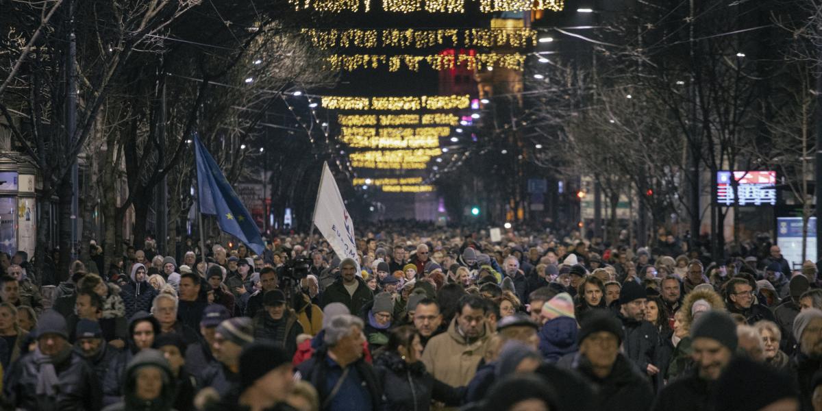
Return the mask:
<svg viewBox="0 0 822 411">
<path fill-rule="evenodd" d="M 252 215 L 242 205 L 240 197 L 225 179 L 219 165 L 211 157 L 205 145 L 194 137 L 197 163 L 197 201 L 200 212 L 215 215 L 219 229 L 245 242 L 254 252 L 262 255 L 266 246 L 262 242 Z"/>
</svg>

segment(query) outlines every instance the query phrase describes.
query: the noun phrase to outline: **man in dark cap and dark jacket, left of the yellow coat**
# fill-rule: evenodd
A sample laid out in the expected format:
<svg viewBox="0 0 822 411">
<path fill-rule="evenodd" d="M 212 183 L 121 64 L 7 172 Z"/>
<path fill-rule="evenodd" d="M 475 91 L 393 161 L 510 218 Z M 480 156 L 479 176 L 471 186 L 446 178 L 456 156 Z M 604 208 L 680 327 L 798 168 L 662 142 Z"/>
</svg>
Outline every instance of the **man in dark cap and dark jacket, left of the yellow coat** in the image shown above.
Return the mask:
<svg viewBox="0 0 822 411">
<path fill-rule="evenodd" d="M 297 315 L 285 303 L 285 294 L 279 289 L 267 291 L 263 309 L 254 316 L 254 339 L 275 344 L 293 357 L 300 334 L 302 326 L 297 321 Z"/>
</svg>

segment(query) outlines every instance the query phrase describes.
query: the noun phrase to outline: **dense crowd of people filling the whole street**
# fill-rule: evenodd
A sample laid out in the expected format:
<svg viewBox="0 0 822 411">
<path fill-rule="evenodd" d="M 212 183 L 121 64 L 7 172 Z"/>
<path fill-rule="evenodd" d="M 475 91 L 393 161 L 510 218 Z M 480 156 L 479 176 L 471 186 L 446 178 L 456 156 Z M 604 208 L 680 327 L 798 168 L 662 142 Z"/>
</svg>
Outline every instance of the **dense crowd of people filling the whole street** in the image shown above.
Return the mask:
<svg viewBox="0 0 822 411">
<path fill-rule="evenodd" d="M 770 243 L 723 261 L 668 235 L 228 244 L 147 242 L 105 270 L 92 244 L 58 284 L 0 254 L 2 409 L 822 411 L 817 265 Z"/>
</svg>

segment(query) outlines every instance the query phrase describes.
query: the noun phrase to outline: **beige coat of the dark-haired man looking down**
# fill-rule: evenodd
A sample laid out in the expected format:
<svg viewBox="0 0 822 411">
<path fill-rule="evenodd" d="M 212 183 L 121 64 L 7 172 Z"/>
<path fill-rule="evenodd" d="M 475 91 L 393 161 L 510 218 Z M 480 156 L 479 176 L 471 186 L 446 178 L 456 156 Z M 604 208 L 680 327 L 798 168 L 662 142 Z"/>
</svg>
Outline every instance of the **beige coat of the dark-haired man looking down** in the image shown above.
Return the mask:
<svg viewBox="0 0 822 411">
<path fill-rule="evenodd" d="M 448 331 L 428 341 L 423 351 L 423 363 L 428 372 L 449 386 L 467 386 L 477 372 L 479 361 L 487 349 L 491 329 L 485 325 L 485 333 L 473 344 L 467 344 L 457 330 L 457 319 L 451 321 Z"/>
</svg>

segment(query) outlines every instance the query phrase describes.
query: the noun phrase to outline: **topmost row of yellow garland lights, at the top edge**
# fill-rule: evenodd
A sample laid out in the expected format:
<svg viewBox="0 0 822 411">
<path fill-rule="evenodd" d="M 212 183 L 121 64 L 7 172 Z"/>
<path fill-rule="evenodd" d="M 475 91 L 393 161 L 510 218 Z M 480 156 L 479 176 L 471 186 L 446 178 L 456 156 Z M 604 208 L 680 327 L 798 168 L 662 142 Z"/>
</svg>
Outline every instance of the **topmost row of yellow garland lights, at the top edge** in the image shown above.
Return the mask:
<svg viewBox="0 0 822 411">
<path fill-rule="evenodd" d="M 359 12 L 361 6 L 369 11 L 370 2 L 361 5 L 359 0 L 289 0 L 295 10 L 313 8 L 318 12 Z M 424 4 L 423 4 L 424 3 Z M 530 10 L 551 10 L 559 12 L 565 7 L 563 0 L 480 0 L 479 9 L 489 12 L 527 12 Z M 382 0 L 386 12 L 441 12 L 464 13 L 465 0 Z"/>
</svg>

